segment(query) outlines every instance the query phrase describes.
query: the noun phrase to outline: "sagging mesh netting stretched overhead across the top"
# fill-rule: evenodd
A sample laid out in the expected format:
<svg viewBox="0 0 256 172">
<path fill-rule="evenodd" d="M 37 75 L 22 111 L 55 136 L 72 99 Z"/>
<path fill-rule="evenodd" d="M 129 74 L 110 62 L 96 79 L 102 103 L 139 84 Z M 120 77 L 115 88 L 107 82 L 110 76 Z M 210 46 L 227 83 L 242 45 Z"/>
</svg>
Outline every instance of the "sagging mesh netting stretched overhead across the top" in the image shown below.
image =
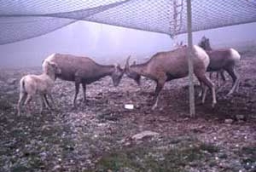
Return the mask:
<svg viewBox="0 0 256 172">
<path fill-rule="evenodd" d="M 187 32 L 185 0 L 0 1 L 0 44 L 37 37 L 77 20 L 175 36 Z M 192 0 L 192 31 L 256 21 L 256 0 Z"/>
</svg>

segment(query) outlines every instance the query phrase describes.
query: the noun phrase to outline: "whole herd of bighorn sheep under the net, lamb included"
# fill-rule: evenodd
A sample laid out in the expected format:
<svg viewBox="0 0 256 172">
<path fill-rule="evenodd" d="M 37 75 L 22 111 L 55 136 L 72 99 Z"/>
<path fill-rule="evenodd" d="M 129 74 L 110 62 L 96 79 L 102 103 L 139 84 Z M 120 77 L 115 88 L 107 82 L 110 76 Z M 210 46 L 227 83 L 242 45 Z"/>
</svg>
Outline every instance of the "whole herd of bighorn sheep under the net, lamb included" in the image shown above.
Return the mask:
<svg viewBox="0 0 256 172">
<path fill-rule="evenodd" d="M 18 115 L 20 115 L 20 106 L 27 104 L 36 94 L 40 95 L 41 108 L 55 107 L 51 95 L 51 89 L 54 86 L 56 77 L 75 83 L 75 95 L 73 105 L 76 106 L 79 86 L 82 84 L 84 92 L 84 101 L 86 100 L 86 84 L 93 83 L 102 77 L 110 76 L 113 85 L 118 86 L 124 74 L 140 84 L 140 78 L 148 77 L 156 82 L 154 105 L 158 105 L 161 89 L 167 81 L 172 79 L 186 77 L 189 74 L 188 66 L 188 47 L 180 45 L 177 49 L 154 54 L 150 60 L 143 64 L 129 65 L 127 58 L 125 68 L 119 65 L 99 65 L 88 57 L 79 57 L 71 54 L 51 54 L 43 61 L 43 74 L 26 75 L 20 79 L 20 99 L 17 105 Z M 201 83 L 202 103 L 207 95 L 207 88 L 212 92 L 212 106 L 217 103 L 215 86 L 208 78 L 207 72 L 218 72 L 224 77 L 224 71 L 228 72 L 233 79 L 233 86 L 228 95 L 237 91 L 239 86 L 239 77 L 236 74 L 236 65 L 239 63 L 241 56 L 235 49 L 212 49 L 209 39 L 202 37 L 199 45 L 194 45 L 193 49 L 193 66 L 194 74 Z M 47 99 L 51 100 L 51 103 Z"/>
</svg>

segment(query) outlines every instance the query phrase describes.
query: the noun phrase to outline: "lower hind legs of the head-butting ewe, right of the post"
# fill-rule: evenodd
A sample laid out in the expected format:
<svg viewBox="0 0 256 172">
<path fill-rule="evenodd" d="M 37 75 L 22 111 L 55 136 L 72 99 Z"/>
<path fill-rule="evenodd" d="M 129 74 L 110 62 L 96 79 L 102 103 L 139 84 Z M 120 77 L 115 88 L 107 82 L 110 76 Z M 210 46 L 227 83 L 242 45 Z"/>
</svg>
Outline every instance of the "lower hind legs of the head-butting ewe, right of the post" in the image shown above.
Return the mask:
<svg viewBox="0 0 256 172">
<path fill-rule="evenodd" d="M 199 81 L 201 81 L 202 83 L 207 85 L 207 87 L 212 90 L 212 107 L 214 107 L 215 104 L 217 103 L 214 83 L 212 83 L 212 81 L 205 74 L 204 75 L 198 75 L 197 78 L 198 78 Z M 202 103 L 204 103 L 204 100 L 206 99 L 207 88 L 205 88 L 204 92 L 205 93 L 203 95 Z"/>
</svg>

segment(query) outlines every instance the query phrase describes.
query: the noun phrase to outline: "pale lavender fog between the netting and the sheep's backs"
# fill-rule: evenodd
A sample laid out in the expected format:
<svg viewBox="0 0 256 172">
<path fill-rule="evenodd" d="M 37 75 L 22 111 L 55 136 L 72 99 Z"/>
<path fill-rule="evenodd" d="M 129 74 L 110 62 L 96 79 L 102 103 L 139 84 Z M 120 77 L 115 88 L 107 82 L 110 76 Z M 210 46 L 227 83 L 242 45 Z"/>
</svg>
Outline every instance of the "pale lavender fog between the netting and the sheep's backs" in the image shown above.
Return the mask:
<svg viewBox="0 0 256 172">
<path fill-rule="evenodd" d="M 193 43 L 202 36 L 210 38 L 212 48 L 256 44 L 256 23 L 228 26 L 193 32 Z M 77 21 L 55 32 L 17 43 L 0 45 L 0 67 L 41 66 L 49 54 L 88 56 L 101 64 L 125 63 L 128 55 L 139 61 L 159 51 L 170 50 L 179 41 L 187 42 L 187 35 L 172 39 L 166 34 L 143 32 L 118 26 Z"/>
</svg>

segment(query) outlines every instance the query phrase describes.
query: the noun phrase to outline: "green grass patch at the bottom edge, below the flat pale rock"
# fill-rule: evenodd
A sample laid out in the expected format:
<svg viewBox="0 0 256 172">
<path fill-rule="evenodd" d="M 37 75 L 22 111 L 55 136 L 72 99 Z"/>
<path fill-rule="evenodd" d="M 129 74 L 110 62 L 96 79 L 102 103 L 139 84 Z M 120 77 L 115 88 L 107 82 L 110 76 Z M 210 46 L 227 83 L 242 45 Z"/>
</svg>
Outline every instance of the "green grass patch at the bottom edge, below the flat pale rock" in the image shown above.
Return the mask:
<svg viewBox="0 0 256 172">
<path fill-rule="evenodd" d="M 205 151 L 218 152 L 218 148 L 206 143 L 194 142 L 192 145 L 159 150 L 152 145 L 143 144 L 143 146 L 133 146 L 106 153 L 96 163 L 96 171 L 110 169 L 117 172 L 128 168 L 131 171 L 140 172 L 185 172 L 186 165 L 193 163 L 194 167 L 201 166 L 200 162 L 209 158 L 209 153 Z"/>
</svg>

